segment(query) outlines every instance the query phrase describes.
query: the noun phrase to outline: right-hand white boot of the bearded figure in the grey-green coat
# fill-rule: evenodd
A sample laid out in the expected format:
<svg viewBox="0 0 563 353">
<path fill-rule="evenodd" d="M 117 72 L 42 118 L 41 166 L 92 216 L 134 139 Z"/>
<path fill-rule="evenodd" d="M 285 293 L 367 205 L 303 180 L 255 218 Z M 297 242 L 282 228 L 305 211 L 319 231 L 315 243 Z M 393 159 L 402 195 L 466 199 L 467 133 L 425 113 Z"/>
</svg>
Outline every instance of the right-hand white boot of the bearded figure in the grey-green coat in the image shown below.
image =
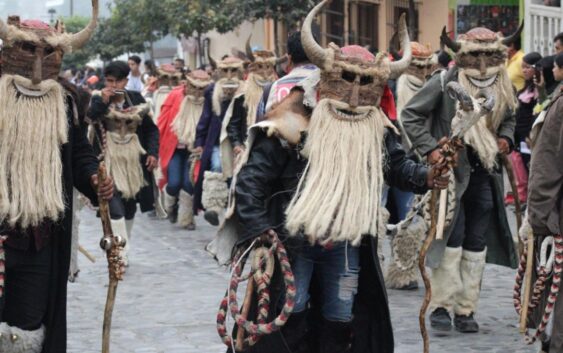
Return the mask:
<svg viewBox="0 0 563 353">
<path fill-rule="evenodd" d="M 456 315 L 467 316 L 477 311 L 486 257 L 487 250 L 480 252 L 463 250 L 460 266 L 463 289 L 455 298 Z"/>
</svg>

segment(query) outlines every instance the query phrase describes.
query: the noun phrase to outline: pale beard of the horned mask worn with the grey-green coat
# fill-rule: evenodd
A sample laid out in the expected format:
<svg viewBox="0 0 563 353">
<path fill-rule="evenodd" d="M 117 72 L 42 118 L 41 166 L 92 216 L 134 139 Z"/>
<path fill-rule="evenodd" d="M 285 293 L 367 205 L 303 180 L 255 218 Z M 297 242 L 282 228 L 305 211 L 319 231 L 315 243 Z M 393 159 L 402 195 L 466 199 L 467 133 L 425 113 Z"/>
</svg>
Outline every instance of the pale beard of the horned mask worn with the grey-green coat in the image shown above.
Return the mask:
<svg viewBox="0 0 563 353">
<path fill-rule="evenodd" d="M 458 75 L 459 83 L 473 97 L 477 96 L 481 88 L 471 83 L 468 74 L 477 77 L 477 72 L 478 70 L 460 69 Z M 498 77 L 489 86 L 489 89 L 495 94 L 495 106 L 492 112 L 473 125 L 465 133 L 463 140 L 475 150 L 483 167 L 492 171 L 496 166 L 496 158 L 499 152 L 497 130 L 505 119 L 506 112 L 516 109 L 517 100 L 505 68 L 498 70 Z"/>
</svg>

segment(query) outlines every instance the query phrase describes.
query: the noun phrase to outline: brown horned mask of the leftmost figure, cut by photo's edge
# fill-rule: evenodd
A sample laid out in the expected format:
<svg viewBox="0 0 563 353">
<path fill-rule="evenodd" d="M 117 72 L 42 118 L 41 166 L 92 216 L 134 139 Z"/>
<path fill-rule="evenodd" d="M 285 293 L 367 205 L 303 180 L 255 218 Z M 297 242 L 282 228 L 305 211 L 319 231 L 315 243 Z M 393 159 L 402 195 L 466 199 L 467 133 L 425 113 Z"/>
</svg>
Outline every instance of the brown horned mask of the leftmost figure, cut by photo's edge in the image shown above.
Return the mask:
<svg viewBox="0 0 563 353">
<path fill-rule="evenodd" d="M 57 21 L 54 27 L 39 21 L 22 21 L 10 16 L 8 22 L 0 20 L 2 73 L 19 75 L 31 80 L 33 85 L 59 75 L 63 55 L 82 48 L 90 39 L 97 24 L 98 0 L 92 0 L 92 19 L 82 31 L 65 33 L 65 26 Z"/>
</svg>

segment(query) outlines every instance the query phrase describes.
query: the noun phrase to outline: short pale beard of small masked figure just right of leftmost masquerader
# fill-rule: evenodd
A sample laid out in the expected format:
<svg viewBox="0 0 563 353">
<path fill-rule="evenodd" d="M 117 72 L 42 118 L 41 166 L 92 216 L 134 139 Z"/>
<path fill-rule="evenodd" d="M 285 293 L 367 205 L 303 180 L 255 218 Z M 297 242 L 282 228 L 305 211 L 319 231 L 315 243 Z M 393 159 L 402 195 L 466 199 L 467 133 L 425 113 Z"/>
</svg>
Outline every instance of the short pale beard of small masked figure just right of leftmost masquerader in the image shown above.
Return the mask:
<svg viewBox="0 0 563 353">
<path fill-rule="evenodd" d="M 140 160 L 146 152 L 141 146 L 137 134 L 131 134 L 129 142 L 126 144 L 115 142 L 120 141 L 118 133 L 108 132 L 107 134 L 105 162 L 108 172 L 123 198 L 133 199 L 146 185 Z"/>
</svg>

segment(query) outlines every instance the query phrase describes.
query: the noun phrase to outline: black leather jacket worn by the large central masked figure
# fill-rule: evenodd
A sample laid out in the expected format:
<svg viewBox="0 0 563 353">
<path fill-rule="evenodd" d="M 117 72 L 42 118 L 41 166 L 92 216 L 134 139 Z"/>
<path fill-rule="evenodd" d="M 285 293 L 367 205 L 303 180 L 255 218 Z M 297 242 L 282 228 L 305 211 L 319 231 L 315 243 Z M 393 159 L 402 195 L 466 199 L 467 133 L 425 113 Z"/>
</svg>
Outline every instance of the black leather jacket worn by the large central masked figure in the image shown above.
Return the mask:
<svg viewBox="0 0 563 353">
<path fill-rule="evenodd" d="M 398 136 L 385 132 L 385 180 L 401 190 L 424 193 L 428 168 L 407 158 Z M 285 234 L 285 210 L 297 188 L 307 161 L 295 147 L 259 133 L 248 162 L 235 186 L 236 215 L 240 221 L 239 242 L 274 229 Z"/>
</svg>

